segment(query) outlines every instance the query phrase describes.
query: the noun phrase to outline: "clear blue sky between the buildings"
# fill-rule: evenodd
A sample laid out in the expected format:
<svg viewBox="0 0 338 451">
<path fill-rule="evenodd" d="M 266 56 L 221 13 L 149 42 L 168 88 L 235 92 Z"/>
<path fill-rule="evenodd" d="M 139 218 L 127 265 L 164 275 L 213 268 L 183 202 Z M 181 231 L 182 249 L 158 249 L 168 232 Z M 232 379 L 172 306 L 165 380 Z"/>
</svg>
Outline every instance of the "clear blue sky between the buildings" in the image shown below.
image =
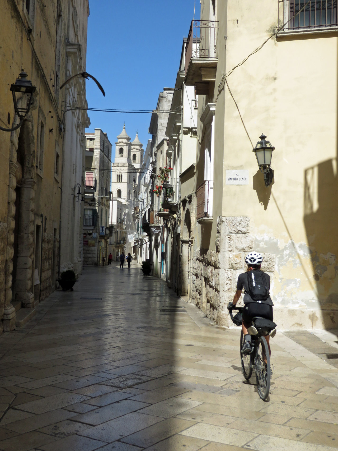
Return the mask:
<svg viewBox="0 0 338 451">
<path fill-rule="evenodd" d="M 174 87 L 183 37 L 187 37 L 195 0 L 89 0 L 87 72 L 89 108 L 153 110 L 164 87 Z M 196 0 L 195 18 L 200 17 Z M 108 134 L 115 150 L 116 136 L 126 123 L 128 135 L 136 130 L 146 148 L 150 114 L 88 111 L 91 126 Z"/>
</svg>

